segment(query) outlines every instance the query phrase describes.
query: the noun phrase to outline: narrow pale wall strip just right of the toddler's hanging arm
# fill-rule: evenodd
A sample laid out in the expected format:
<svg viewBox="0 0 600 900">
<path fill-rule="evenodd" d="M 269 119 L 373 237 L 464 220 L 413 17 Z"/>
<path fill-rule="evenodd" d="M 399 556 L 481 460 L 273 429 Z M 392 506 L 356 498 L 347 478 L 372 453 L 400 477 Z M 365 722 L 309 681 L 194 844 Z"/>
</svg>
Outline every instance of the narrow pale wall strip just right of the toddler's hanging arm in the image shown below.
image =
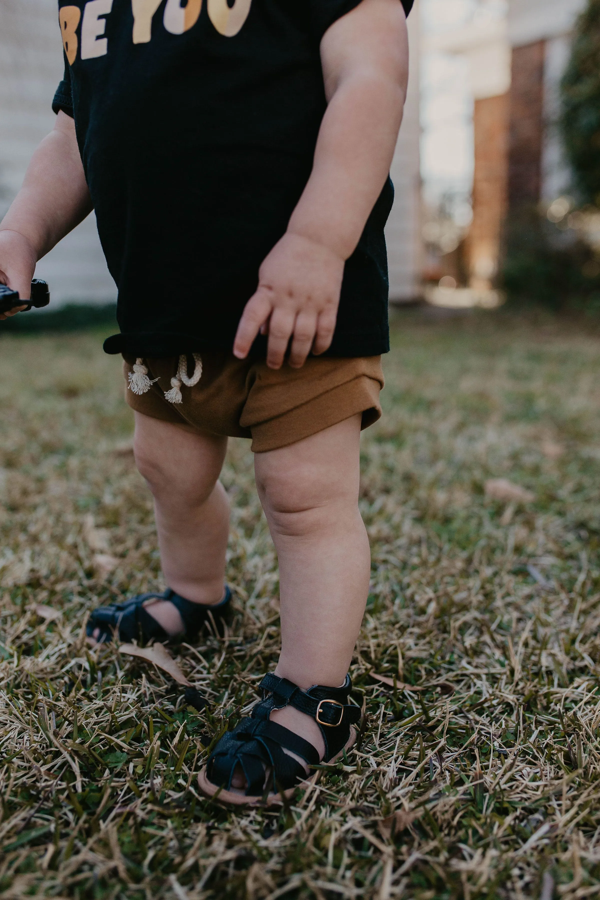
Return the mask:
<svg viewBox="0 0 600 900">
<path fill-rule="evenodd" d="M 386 228 L 390 266 L 390 300 L 406 302 L 423 293 L 419 116 L 419 3 L 408 16 L 410 76 L 407 103 L 391 165 L 396 199 Z"/>
</svg>

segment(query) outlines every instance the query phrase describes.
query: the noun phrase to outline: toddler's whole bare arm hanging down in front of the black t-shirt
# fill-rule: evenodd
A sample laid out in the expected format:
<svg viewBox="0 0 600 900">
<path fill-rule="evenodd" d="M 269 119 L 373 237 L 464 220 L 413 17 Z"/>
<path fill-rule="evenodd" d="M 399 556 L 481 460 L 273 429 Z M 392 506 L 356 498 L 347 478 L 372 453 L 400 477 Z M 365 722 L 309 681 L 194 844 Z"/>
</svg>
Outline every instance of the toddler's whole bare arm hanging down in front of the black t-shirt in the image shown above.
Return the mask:
<svg viewBox="0 0 600 900">
<path fill-rule="evenodd" d="M 336 328 L 345 260 L 352 255 L 390 171 L 408 76 L 407 25 L 399 0 L 363 0 L 326 32 L 321 59 L 327 112 L 309 183 L 288 230 L 264 260 L 234 353 L 259 331 L 267 363 L 324 353 Z"/>
</svg>

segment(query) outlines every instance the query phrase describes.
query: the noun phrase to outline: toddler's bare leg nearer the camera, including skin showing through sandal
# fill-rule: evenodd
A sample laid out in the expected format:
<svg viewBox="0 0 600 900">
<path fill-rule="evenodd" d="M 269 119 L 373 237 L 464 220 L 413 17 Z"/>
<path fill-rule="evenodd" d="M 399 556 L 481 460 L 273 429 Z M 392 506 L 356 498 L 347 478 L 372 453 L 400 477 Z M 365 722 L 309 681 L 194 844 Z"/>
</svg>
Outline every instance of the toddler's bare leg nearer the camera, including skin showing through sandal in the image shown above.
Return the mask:
<svg viewBox="0 0 600 900">
<path fill-rule="evenodd" d="M 358 509 L 361 416 L 255 455 L 256 484 L 279 557 L 282 654 L 276 674 L 302 689 L 339 687 L 369 592 L 371 554 Z M 293 707 L 272 721 L 320 753 L 317 723 Z"/>
</svg>

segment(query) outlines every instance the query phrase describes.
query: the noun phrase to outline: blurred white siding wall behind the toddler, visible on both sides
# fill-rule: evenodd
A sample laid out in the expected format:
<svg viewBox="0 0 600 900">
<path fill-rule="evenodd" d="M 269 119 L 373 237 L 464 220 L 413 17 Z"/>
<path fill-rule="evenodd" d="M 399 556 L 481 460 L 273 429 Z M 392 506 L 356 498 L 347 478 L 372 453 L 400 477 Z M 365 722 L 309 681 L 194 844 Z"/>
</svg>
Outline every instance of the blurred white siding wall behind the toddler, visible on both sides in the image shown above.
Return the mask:
<svg viewBox="0 0 600 900">
<path fill-rule="evenodd" d="M 418 11 L 410 16 L 410 89 L 392 166 L 396 202 L 390 217 L 390 294 L 420 290 Z M 62 77 L 57 0 L 0 0 L 0 218 L 22 183 L 33 150 L 55 121 L 50 104 Z M 110 302 L 116 288 L 90 216 L 40 260 L 53 302 Z"/>
</svg>

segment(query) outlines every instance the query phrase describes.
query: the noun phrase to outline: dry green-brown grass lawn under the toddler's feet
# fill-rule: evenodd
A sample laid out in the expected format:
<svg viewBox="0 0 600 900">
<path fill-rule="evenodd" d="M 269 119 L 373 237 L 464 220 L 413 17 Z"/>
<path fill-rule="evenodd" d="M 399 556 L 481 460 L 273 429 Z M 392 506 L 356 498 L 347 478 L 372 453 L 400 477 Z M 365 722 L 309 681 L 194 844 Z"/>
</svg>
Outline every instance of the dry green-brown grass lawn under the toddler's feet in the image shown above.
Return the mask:
<svg viewBox="0 0 600 900">
<path fill-rule="evenodd" d="M 360 743 L 251 813 L 196 785 L 279 647 L 247 442 L 223 472 L 236 620 L 174 651 L 206 709 L 85 645 L 91 608 L 163 586 L 102 337 L 0 338 L 0 897 L 599 894 L 598 327 L 396 316 L 363 435 Z"/>
</svg>

